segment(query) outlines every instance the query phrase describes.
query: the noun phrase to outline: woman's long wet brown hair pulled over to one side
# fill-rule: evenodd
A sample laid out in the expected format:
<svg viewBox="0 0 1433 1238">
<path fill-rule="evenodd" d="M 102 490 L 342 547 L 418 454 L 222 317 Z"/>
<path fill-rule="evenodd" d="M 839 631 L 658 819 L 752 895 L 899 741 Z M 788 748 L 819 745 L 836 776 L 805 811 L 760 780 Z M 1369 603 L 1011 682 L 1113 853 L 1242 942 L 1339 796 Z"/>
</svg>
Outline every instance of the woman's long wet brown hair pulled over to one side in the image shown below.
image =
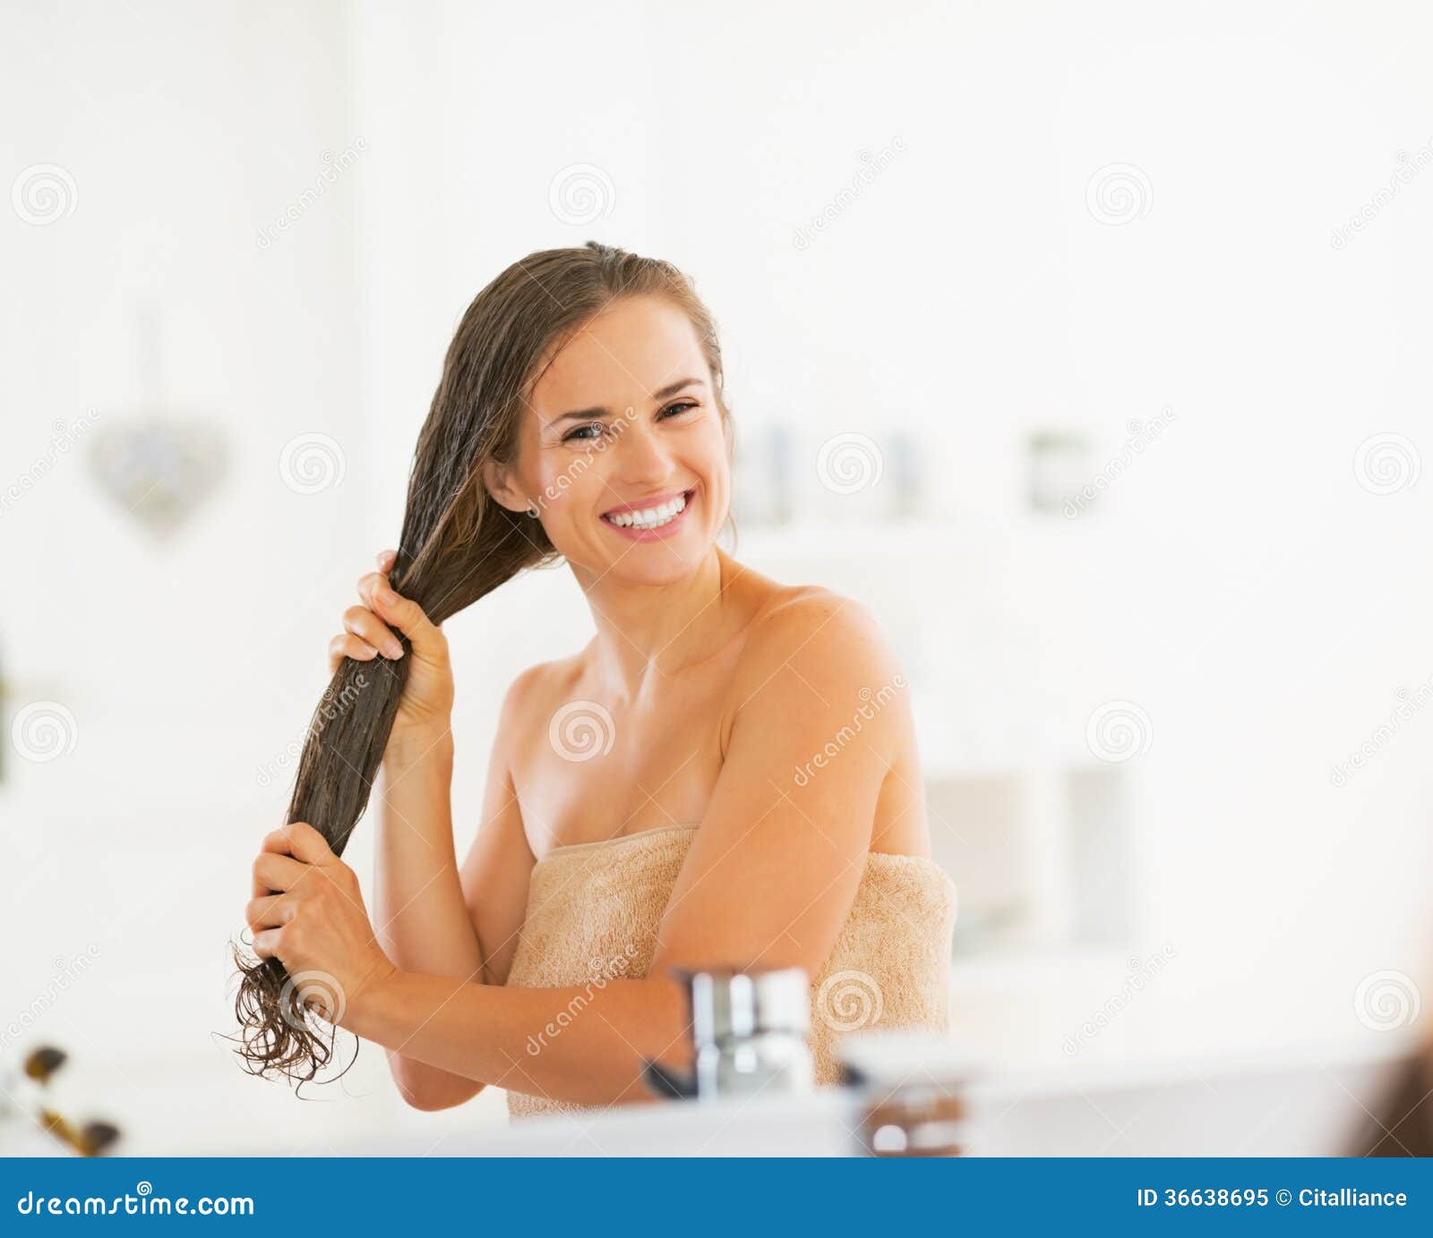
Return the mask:
<svg viewBox="0 0 1433 1238">
<path fill-rule="evenodd" d="M 390 582 L 433 623 L 523 569 L 559 560 L 540 520 L 509 512 L 487 493 L 483 464 L 514 461 L 523 408 L 550 357 L 602 310 L 635 295 L 663 297 L 691 321 L 711 367 L 731 457 L 721 345 L 686 275 L 669 262 L 596 241 L 529 254 L 467 307 L 418 434 Z M 394 635 L 407 651 L 408 639 Z M 368 804 L 410 661 L 345 658 L 310 722 L 285 820 L 307 821 L 335 855 L 342 855 Z M 312 1079 L 332 1057 L 334 1029 L 307 999 L 317 994 L 331 1012 L 332 999 L 341 1002 L 342 994 L 324 994 L 321 983 L 291 977 L 277 957 L 259 959 L 238 947 L 234 953 L 242 973 L 234 1003 L 241 1025 L 235 1053 L 251 1073 Z"/>
</svg>

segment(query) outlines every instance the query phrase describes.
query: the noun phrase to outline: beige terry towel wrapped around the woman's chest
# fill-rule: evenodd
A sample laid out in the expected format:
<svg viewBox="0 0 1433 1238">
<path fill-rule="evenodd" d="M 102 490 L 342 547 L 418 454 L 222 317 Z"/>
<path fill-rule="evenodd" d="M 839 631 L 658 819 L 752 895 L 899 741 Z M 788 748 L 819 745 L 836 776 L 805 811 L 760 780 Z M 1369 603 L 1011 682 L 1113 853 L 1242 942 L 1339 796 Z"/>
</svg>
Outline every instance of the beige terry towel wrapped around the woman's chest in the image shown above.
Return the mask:
<svg viewBox="0 0 1433 1238">
<path fill-rule="evenodd" d="M 576 1009 L 553 1010 L 549 1027 L 556 1035 L 582 1017 L 588 993 L 599 992 L 606 980 L 646 976 L 662 913 L 695 832 L 689 825 L 662 825 L 557 847 L 537 861 L 507 983 L 527 989 L 583 986 Z M 949 1030 L 954 923 L 956 886 L 939 864 L 867 853 L 850 916 L 825 967 L 811 982 L 817 1086 L 838 1082 L 835 1046 L 845 1032 Z M 529 1039 L 527 1052 L 540 1053 L 547 1039 L 547 1032 Z M 526 1095 L 516 1090 L 520 1086 L 507 1092 L 513 1118 L 596 1108 Z"/>
</svg>

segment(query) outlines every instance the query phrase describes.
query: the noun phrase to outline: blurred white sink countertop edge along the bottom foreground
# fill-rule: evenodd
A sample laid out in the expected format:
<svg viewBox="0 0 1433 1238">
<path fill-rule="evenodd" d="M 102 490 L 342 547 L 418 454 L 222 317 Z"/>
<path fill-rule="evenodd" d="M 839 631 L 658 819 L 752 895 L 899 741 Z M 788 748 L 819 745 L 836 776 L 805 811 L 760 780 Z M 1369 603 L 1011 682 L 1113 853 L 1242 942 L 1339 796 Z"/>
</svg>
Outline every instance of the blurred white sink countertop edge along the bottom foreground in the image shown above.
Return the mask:
<svg viewBox="0 0 1433 1238">
<path fill-rule="evenodd" d="M 1377 1103 L 1406 1037 L 1318 1050 L 1169 1062 L 1072 1063 L 984 1078 L 967 1092 L 967 1153 L 984 1156 L 1333 1156 Z M 444 1156 L 854 1156 L 857 1100 L 804 1096 L 668 1100 L 530 1118 L 451 1133 Z M 430 1155 L 431 1141 L 365 1142 L 345 1155 Z"/>
</svg>

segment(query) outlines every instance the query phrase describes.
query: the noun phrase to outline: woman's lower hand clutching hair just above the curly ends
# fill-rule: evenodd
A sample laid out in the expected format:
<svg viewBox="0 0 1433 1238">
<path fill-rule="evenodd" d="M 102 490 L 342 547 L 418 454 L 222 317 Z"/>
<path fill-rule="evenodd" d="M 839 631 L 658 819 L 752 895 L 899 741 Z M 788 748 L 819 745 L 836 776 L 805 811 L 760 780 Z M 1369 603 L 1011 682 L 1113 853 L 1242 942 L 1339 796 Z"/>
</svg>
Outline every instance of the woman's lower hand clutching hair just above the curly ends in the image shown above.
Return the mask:
<svg viewBox="0 0 1433 1238">
<path fill-rule="evenodd" d="M 358 993 L 397 971 L 374 936 L 357 874 L 304 821 L 264 838 L 245 920 L 254 951 L 277 956 L 304 1003 L 330 1023 L 342 1026 Z"/>
</svg>

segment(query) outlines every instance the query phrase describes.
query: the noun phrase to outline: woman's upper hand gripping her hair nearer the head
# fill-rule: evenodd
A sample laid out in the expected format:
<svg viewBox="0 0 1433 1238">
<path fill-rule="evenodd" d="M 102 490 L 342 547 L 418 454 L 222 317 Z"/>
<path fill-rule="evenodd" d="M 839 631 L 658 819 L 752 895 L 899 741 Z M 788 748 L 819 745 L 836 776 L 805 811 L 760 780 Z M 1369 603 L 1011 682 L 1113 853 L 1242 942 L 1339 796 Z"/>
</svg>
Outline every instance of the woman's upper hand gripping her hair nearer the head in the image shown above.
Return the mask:
<svg viewBox="0 0 1433 1238">
<path fill-rule="evenodd" d="M 384 550 L 378 555 L 378 570 L 358 579 L 358 596 L 364 605 L 344 612 L 344 630 L 328 642 L 328 668 L 337 671 L 344 658 L 371 662 L 380 653 L 394 661 L 411 656 L 393 734 L 431 735 L 437 739 L 447 734 L 453 715 L 447 636 L 428 622 L 417 602 L 400 598 L 388 585 L 396 559 L 393 550 Z M 410 655 L 404 655 L 394 629 L 408 638 Z"/>
</svg>

